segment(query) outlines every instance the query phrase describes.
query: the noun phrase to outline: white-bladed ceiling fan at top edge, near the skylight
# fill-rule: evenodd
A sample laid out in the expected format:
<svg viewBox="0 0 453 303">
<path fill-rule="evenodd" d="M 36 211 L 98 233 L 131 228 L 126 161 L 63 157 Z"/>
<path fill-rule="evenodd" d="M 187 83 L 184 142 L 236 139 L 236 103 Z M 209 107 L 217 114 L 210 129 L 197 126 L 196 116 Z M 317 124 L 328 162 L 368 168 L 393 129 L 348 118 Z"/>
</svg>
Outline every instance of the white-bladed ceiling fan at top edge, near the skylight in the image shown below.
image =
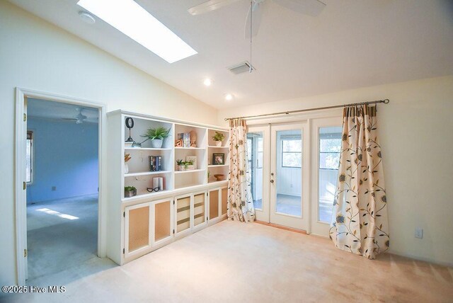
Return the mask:
<svg viewBox="0 0 453 303">
<path fill-rule="evenodd" d="M 222 8 L 223 6 L 228 6 L 236 1 L 240 0 L 210 0 L 203 2 L 193 8 L 189 8 L 188 12 L 195 16 L 202 13 L 207 13 L 209 11 L 214 11 L 216 9 Z M 243 1 L 243 0 L 241 0 Z M 265 2 L 270 0 L 251 0 L 253 4 L 248 10 L 246 18 L 246 28 L 245 34 L 246 39 L 249 39 L 251 36 L 256 36 L 258 34 L 258 29 L 260 28 L 261 16 L 263 15 L 263 5 Z M 276 4 L 284 6 L 292 11 L 297 13 L 303 13 L 309 16 L 318 16 L 326 4 L 318 0 L 272 0 Z M 252 16 L 253 15 L 253 16 Z M 251 27 L 252 22 L 252 27 Z"/>
</svg>

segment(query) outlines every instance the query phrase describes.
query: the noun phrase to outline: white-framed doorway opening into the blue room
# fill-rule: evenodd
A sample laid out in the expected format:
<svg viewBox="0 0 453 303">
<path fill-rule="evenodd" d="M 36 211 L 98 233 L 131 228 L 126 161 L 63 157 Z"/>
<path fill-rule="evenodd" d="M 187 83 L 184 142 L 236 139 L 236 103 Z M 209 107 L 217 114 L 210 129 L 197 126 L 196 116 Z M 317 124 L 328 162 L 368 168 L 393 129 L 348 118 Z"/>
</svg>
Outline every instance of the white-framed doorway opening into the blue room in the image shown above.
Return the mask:
<svg viewBox="0 0 453 303">
<path fill-rule="evenodd" d="M 105 105 L 16 88 L 18 285 L 115 266 L 104 258 L 104 142 Z"/>
</svg>

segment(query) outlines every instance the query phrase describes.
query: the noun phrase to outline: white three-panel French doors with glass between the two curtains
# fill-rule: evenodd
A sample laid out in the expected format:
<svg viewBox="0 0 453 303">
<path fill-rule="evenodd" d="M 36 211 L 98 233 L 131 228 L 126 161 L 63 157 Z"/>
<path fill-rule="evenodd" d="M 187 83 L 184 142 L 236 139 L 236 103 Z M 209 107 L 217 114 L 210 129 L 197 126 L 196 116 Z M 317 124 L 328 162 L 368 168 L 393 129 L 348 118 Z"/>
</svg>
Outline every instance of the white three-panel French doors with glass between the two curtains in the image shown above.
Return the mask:
<svg viewBox="0 0 453 303">
<path fill-rule="evenodd" d="M 247 143 L 256 219 L 328 236 L 341 119 L 251 126 Z"/>
</svg>

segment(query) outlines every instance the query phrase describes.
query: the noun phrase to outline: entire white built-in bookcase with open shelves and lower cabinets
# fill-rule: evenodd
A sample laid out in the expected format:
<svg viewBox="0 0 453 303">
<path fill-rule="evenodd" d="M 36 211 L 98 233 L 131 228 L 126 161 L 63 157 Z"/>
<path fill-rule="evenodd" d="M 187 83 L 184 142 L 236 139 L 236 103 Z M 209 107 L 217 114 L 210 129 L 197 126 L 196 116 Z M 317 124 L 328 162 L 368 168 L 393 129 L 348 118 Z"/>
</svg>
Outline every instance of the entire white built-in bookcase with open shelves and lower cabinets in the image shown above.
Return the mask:
<svg viewBox="0 0 453 303">
<path fill-rule="evenodd" d="M 132 118 L 129 130 L 125 119 Z M 108 257 L 122 265 L 226 218 L 226 176 L 228 164 L 228 130 L 197 123 L 165 119 L 124 110 L 108 113 Z M 145 141 L 149 128 L 165 127 L 169 137 L 161 148 Z M 222 132 L 225 141 L 216 147 L 212 139 Z M 191 133 L 195 144 L 176 147 L 180 133 Z M 125 144 L 128 137 L 142 142 L 142 147 Z M 225 164 L 211 164 L 212 154 L 224 154 Z M 125 171 L 125 154 L 130 154 Z M 161 171 L 150 171 L 149 156 L 161 156 Z M 197 157 L 191 171 L 178 171 L 176 160 Z M 210 178 L 208 178 L 208 172 Z M 224 181 L 215 181 L 214 174 L 223 174 Z M 164 188 L 149 192 L 153 178 L 164 178 Z M 125 186 L 137 188 L 137 195 L 125 198 Z M 212 197 L 212 198 L 211 198 Z"/>
</svg>

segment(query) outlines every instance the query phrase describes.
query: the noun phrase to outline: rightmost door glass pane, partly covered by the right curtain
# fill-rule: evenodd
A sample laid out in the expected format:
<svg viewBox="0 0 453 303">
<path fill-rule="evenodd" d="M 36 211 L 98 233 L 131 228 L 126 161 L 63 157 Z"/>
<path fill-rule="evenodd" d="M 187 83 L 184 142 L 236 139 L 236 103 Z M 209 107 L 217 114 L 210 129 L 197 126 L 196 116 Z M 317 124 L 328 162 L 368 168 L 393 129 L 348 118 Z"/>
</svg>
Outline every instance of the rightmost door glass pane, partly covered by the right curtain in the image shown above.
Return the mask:
<svg viewBox="0 0 453 303">
<path fill-rule="evenodd" d="M 340 163 L 342 127 L 319 128 L 319 201 L 318 220 L 331 222 L 338 165 Z"/>
</svg>

